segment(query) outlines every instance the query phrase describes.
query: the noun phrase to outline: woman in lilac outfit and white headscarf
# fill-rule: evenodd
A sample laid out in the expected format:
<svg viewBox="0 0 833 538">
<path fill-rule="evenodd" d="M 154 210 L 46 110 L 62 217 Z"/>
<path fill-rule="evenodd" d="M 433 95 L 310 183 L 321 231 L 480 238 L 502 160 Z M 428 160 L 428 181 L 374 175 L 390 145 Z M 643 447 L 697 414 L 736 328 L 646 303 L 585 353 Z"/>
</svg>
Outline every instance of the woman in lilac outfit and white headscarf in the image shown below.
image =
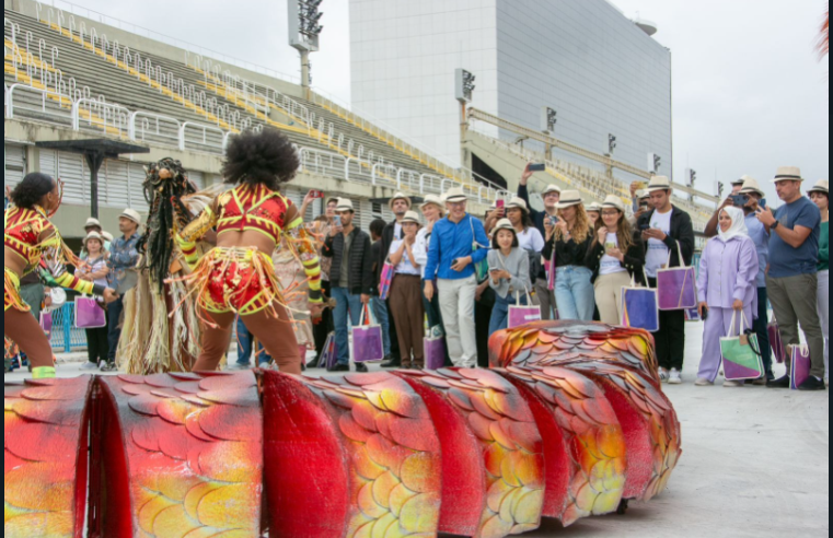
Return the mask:
<svg viewBox="0 0 833 538">
<path fill-rule="evenodd" d="M 757 252 L 749 237 L 743 211 L 725 208 L 720 211 L 719 235 L 706 244 L 699 264 L 697 293 L 699 314 L 707 312 L 703 335 L 703 359 L 695 385 L 715 384 L 720 370 L 720 339 L 740 334 L 741 312 L 745 328 L 752 327 L 753 313 L 757 312 Z M 737 315 L 732 330 L 732 316 Z M 739 387 L 740 383 L 727 381 L 725 387 Z"/>
</svg>

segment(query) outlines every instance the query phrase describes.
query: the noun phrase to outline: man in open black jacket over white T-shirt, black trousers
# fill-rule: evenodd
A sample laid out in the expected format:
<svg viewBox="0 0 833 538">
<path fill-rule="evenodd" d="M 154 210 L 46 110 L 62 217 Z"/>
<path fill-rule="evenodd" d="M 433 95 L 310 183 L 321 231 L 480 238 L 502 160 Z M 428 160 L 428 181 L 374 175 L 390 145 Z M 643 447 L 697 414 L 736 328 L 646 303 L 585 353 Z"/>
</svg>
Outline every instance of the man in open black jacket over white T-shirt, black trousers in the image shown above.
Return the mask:
<svg viewBox="0 0 833 538">
<path fill-rule="evenodd" d="M 648 184 L 648 192 L 653 209 L 645 213 L 637 224 L 647 244 L 645 272 L 651 288 L 657 288 L 657 271 L 668 265 L 679 267 L 682 258 L 691 266 L 694 257 L 694 226 L 685 211 L 671 203 L 671 180 L 655 176 Z M 685 312 L 662 311 L 659 313 L 659 330 L 653 334 L 657 342 L 659 375 L 663 382 L 679 385 L 682 381 L 685 359 Z"/>
</svg>

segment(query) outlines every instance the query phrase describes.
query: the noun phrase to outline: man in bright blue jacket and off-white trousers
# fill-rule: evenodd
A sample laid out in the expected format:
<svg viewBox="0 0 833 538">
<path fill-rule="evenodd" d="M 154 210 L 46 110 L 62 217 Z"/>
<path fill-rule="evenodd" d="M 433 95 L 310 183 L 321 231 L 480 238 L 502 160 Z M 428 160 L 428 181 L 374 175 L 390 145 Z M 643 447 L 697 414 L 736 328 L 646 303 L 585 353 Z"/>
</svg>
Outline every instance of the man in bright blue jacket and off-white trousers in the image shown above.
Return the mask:
<svg viewBox="0 0 833 538">
<path fill-rule="evenodd" d="M 451 362 L 471 369 L 477 365 L 475 266 L 486 259 L 489 239 L 483 223 L 466 212 L 466 203 L 462 188 L 449 190 L 446 199 L 449 215 L 433 226 L 425 268 L 426 274 L 437 274 L 438 290 L 428 280 L 425 296 L 430 302 L 435 292 L 439 292 Z"/>
</svg>

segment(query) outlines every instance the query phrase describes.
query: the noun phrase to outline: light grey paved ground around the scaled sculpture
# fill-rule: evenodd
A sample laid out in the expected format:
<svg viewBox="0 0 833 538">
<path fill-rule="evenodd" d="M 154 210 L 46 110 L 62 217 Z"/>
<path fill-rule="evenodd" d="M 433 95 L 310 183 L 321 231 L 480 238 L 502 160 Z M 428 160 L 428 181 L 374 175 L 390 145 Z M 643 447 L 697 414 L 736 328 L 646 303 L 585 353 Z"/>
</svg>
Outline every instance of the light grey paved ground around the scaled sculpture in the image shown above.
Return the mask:
<svg viewBox="0 0 833 538">
<path fill-rule="evenodd" d="M 690 325 L 686 383 L 666 389 L 680 414 L 685 451 L 669 490 L 651 503 L 633 504 L 626 516 L 585 519 L 568 529 L 546 522 L 524 536 L 829 536 L 828 394 L 694 387 L 701 341 L 702 327 Z M 59 369 L 61 376 L 79 373 L 78 363 Z"/>
</svg>

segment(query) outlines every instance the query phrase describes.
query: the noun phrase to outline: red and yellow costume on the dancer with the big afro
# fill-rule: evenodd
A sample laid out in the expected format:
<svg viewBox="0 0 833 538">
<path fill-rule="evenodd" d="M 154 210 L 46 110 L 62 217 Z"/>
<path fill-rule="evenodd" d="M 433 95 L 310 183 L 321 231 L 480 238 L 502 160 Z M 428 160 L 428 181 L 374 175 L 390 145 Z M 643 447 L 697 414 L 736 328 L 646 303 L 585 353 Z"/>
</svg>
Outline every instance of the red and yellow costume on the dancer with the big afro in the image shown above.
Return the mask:
<svg viewBox="0 0 833 538">
<path fill-rule="evenodd" d="M 225 232 L 256 231 L 276 243 L 280 243 L 282 233 L 289 234 L 289 243 L 310 279 L 310 302 L 322 302 L 315 244 L 303 227 L 300 214 L 292 222 L 286 222 L 291 207 L 291 201 L 263 185 L 241 185 L 221 195 L 177 235 L 185 260 L 194 268 L 187 280 L 200 286 L 197 299 L 200 307 L 212 314 L 234 312 L 247 316 L 269 308 L 276 301 L 284 302 L 271 253 L 217 247 L 199 259 L 197 242 L 215 226 L 218 236 Z"/>
</svg>

